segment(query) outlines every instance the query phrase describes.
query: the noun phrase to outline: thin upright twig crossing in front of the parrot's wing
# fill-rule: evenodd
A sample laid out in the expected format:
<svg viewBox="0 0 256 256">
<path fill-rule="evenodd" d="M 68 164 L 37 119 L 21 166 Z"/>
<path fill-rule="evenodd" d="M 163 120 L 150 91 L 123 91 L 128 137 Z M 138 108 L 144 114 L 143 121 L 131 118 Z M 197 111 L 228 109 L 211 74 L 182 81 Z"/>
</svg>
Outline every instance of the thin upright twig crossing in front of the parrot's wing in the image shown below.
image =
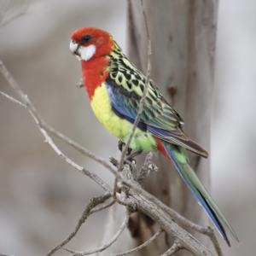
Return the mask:
<svg viewBox="0 0 256 256">
<path fill-rule="evenodd" d="M 138 122 L 141 118 L 141 115 L 143 113 L 143 107 L 144 107 L 144 102 L 145 102 L 145 99 L 146 99 L 146 96 L 147 96 L 148 83 L 149 83 L 149 77 L 150 77 L 150 72 L 151 72 L 151 61 L 150 61 L 150 57 L 151 57 L 151 54 L 152 54 L 152 52 L 151 52 L 151 41 L 150 41 L 150 37 L 149 37 L 148 20 L 147 20 L 146 10 L 145 10 L 144 5 L 143 5 L 143 0 L 141 0 L 141 5 L 142 5 L 142 8 L 143 8 L 143 17 L 144 17 L 144 21 L 145 21 L 145 24 L 146 24 L 146 31 L 147 31 L 147 38 L 148 38 L 148 65 L 147 65 L 146 81 L 145 81 L 145 88 L 143 90 L 143 96 L 141 98 L 140 106 L 139 106 L 139 109 L 138 109 L 138 112 L 137 112 L 137 118 L 134 121 L 130 136 L 128 138 L 127 143 L 125 143 L 125 148 L 123 149 L 122 154 L 121 154 L 121 158 L 119 160 L 119 169 L 118 169 L 119 172 L 120 172 L 120 170 L 121 170 L 121 168 L 124 164 L 125 154 L 126 154 L 128 148 L 130 146 L 131 139 L 134 135 L 135 130 L 137 129 L 137 124 L 138 124 Z"/>
</svg>

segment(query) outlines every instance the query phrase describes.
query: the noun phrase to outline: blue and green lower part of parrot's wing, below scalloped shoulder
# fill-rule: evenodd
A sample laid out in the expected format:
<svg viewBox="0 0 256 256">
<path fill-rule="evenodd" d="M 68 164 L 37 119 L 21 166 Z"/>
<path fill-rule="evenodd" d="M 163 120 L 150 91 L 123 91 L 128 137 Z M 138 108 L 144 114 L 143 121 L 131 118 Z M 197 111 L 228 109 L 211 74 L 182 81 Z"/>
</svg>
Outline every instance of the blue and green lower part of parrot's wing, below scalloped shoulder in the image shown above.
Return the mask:
<svg viewBox="0 0 256 256">
<path fill-rule="evenodd" d="M 107 79 L 105 85 L 114 113 L 133 124 L 137 117 L 141 96 L 135 91 L 128 91 L 122 85 L 115 84 L 111 79 Z M 181 122 L 182 119 L 162 96 L 154 97 L 154 100 L 147 96 L 138 127 L 161 140 L 183 146 L 195 154 L 207 157 L 207 151 L 191 141 L 183 132 Z"/>
</svg>

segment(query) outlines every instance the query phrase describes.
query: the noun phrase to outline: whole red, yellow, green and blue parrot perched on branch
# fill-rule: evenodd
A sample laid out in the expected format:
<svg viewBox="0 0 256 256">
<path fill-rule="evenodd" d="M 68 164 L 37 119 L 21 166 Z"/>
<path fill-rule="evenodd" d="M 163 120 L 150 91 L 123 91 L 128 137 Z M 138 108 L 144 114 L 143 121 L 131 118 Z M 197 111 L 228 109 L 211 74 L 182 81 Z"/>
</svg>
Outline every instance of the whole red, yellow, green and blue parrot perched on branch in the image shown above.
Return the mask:
<svg viewBox="0 0 256 256">
<path fill-rule="evenodd" d="M 84 87 L 96 118 L 122 143 L 127 143 L 145 89 L 144 74 L 129 61 L 108 32 L 96 27 L 85 26 L 73 32 L 69 47 L 81 62 Z M 186 153 L 189 150 L 207 158 L 207 150 L 189 138 L 183 124 L 180 115 L 149 79 L 143 113 L 129 146 L 134 151 L 131 155 L 152 150 L 164 154 L 230 247 L 221 221 L 239 242 L 238 237 L 189 165 Z"/>
</svg>

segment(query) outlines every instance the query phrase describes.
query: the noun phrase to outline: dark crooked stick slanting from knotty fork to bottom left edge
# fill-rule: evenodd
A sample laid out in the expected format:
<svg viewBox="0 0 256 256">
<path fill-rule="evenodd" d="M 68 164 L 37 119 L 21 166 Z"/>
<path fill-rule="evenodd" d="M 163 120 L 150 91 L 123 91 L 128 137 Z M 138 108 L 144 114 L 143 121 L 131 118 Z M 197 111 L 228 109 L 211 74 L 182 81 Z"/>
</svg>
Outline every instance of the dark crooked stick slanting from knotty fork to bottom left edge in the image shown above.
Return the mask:
<svg viewBox="0 0 256 256">
<path fill-rule="evenodd" d="M 94 197 L 89 204 L 86 205 L 86 207 L 84 207 L 84 212 L 82 213 L 81 217 L 79 218 L 79 222 L 76 225 L 75 229 L 73 230 L 73 232 L 67 236 L 67 238 L 64 241 L 61 241 L 61 243 L 59 245 L 57 245 L 56 247 L 52 248 L 49 253 L 46 256 L 50 256 L 53 253 L 55 253 L 57 250 L 59 250 L 61 247 L 65 246 L 67 244 L 68 241 L 71 241 L 71 239 L 77 235 L 80 227 L 82 224 L 84 224 L 85 220 L 90 216 L 90 214 L 92 213 L 91 210 L 92 208 L 96 207 L 97 205 L 103 203 L 104 201 L 108 200 L 108 198 L 111 197 L 111 194 L 106 193 L 105 195 L 101 195 L 101 196 L 97 196 Z"/>
</svg>

